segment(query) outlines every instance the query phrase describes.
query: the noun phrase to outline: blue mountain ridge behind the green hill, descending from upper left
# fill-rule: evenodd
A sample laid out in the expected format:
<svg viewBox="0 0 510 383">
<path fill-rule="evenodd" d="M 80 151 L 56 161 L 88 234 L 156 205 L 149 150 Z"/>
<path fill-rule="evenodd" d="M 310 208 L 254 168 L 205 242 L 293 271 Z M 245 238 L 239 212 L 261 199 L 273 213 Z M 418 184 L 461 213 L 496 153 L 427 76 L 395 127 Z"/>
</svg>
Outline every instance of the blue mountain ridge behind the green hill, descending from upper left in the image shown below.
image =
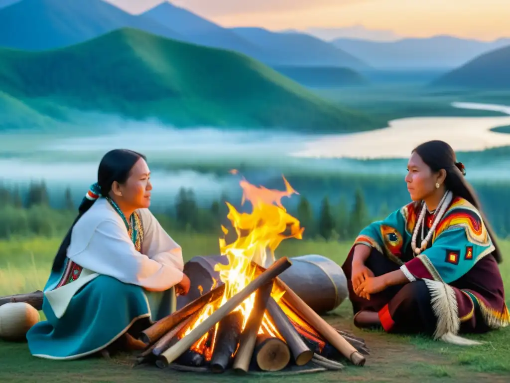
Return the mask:
<svg viewBox="0 0 510 383">
<path fill-rule="evenodd" d="M 102 0 L 18 0 L 0 10 L 0 46 L 28 51 L 56 49 L 124 27 L 233 50 L 269 65 L 368 68 L 336 46 L 307 34 L 227 29 L 170 3 L 131 15 Z"/>
</svg>

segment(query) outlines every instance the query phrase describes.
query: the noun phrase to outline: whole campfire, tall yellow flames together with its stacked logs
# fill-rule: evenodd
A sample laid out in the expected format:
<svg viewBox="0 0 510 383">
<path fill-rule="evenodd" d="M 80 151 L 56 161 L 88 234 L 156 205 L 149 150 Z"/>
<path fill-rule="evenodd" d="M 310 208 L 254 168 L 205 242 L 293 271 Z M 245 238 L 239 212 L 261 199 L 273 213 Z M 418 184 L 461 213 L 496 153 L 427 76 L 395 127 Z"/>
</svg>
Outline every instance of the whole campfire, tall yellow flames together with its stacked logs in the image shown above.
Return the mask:
<svg viewBox="0 0 510 383">
<path fill-rule="evenodd" d="M 252 210 L 226 203 L 232 229 L 222 229 L 236 235 L 230 243 L 220 238 L 228 259 L 215 267 L 220 280 L 142 332 L 147 349 L 139 363 L 216 373 L 340 370 L 342 358 L 364 365 L 364 341 L 331 327 L 278 278 L 292 264 L 275 260 L 274 251 L 287 238 L 301 239 L 304 230 L 282 205 L 283 197 L 297 194 L 284 182 L 285 191 L 240 182 L 242 204 L 250 202 Z"/>
</svg>

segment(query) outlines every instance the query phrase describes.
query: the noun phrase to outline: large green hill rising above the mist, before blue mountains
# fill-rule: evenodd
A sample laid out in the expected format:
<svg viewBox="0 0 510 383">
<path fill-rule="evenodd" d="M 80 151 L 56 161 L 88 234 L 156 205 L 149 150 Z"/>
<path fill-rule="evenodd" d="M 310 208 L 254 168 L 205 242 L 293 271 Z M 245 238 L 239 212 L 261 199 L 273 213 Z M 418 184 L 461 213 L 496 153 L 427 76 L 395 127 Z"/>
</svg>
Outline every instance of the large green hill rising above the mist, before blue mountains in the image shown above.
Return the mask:
<svg viewBox="0 0 510 383">
<path fill-rule="evenodd" d="M 73 110 L 177 127 L 348 132 L 384 124 L 245 55 L 131 28 L 57 50 L 0 49 L 0 89 L 3 129 L 65 122 Z"/>
</svg>

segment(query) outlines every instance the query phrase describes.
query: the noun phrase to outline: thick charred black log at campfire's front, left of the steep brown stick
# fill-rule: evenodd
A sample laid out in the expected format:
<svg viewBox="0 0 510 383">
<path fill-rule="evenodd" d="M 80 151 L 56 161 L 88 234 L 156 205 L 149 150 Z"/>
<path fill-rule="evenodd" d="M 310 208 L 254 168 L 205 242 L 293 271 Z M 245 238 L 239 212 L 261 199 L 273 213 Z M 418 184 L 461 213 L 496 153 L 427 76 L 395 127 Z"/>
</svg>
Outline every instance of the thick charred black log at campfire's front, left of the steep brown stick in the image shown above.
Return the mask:
<svg viewBox="0 0 510 383">
<path fill-rule="evenodd" d="M 211 358 L 211 370 L 213 372 L 224 372 L 232 362 L 242 326 L 243 314 L 240 311 L 230 313 L 219 321 L 216 345 Z"/>
</svg>

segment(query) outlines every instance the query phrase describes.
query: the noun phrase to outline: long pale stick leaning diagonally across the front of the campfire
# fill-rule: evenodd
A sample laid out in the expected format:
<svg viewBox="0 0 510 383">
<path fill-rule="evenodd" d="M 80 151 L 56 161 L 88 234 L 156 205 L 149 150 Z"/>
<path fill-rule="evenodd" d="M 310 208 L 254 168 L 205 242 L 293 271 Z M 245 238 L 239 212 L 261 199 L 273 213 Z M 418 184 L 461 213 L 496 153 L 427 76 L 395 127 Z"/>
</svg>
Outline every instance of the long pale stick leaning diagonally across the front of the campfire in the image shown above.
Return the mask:
<svg viewBox="0 0 510 383">
<path fill-rule="evenodd" d="M 186 337 L 163 352 L 161 354 L 161 361 L 163 364 L 168 366 L 170 363 L 175 361 L 179 355 L 190 348 L 197 340 L 203 336 L 203 334 L 209 331 L 211 327 L 213 327 L 222 318 L 224 318 L 225 315 L 243 303 L 246 298 L 256 292 L 261 286 L 287 270 L 291 265 L 291 262 L 286 257 L 280 258 L 274 262 L 274 264 L 272 264 L 266 271 L 248 283 L 248 285 L 246 285 L 243 290 L 234 295 L 231 299 L 228 299 L 213 314 L 206 318 L 206 320 L 196 326 Z"/>
</svg>

